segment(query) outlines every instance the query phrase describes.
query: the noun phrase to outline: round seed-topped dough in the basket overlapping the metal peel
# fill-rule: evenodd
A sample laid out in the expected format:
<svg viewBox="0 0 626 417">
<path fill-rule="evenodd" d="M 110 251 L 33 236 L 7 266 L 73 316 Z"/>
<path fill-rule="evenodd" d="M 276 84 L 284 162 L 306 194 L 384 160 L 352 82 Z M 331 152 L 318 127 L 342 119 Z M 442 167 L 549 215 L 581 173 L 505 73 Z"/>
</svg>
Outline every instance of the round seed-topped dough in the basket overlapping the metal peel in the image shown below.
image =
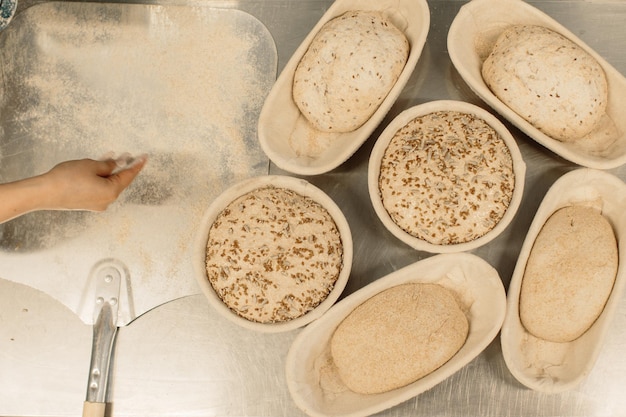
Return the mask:
<svg viewBox="0 0 626 417">
<path fill-rule="evenodd" d="M 260 323 L 300 317 L 334 288 L 343 261 L 328 211 L 295 191 L 268 186 L 230 203 L 207 242 L 207 277 L 236 314 Z"/>
</svg>

